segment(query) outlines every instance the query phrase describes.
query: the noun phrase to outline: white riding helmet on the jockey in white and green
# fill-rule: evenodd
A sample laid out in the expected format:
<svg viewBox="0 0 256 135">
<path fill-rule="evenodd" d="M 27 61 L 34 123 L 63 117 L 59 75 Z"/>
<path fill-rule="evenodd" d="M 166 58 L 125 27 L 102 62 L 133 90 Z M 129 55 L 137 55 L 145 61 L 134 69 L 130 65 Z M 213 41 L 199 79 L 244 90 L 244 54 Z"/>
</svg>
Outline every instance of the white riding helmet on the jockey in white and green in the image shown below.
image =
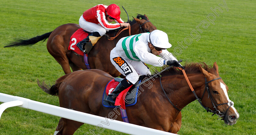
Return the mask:
<svg viewBox="0 0 256 135">
<path fill-rule="evenodd" d="M 172 47 L 172 45 L 169 43 L 168 35 L 158 29 L 149 33 L 148 42 L 150 42 L 153 46 L 159 48 Z"/>
</svg>

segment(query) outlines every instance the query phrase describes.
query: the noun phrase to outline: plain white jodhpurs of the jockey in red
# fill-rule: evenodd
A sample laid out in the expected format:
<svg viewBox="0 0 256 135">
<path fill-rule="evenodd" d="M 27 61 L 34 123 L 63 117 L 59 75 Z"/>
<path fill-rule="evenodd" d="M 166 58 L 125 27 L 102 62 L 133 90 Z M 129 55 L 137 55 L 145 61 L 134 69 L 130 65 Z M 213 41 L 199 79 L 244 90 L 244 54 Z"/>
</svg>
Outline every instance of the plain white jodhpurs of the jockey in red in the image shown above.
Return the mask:
<svg viewBox="0 0 256 135">
<path fill-rule="evenodd" d="M 105 28 L 103 28 L 100 24 L 95 24 L 92 22 L 87 22 L 83 15 L 79 19 L 79 25 L 87 32 L 99 32 L 101 36 L 106 34 Z"/>
</svg>

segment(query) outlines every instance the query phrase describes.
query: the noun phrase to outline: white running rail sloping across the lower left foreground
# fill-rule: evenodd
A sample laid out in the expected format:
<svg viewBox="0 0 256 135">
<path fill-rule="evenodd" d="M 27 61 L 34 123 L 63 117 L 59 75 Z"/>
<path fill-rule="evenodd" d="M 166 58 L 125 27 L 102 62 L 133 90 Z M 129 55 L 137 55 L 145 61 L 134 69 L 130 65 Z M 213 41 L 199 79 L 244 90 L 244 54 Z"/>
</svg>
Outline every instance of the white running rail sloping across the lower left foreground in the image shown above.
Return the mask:
<svg viewBox="0 0 256 135">
<path fill-rule="evenodd" d="M 108 125 L 104 125 L 103 128 L 107 128 L 110 130 L 115 130 L 123 133 L 128 133 L 132 135 L 141 135 L 141 134 L 147 134 L 147 135 L 176 135 L 173 133 L 168 133 L 160 130 L 151 129 L 148 127 L 142 127 L 130 123 L 125 123 L 117 120 L 111 120 L 107 117 L 100 117 L 88 113 L 82 113 L 75 110 L 70 110 L 66 108 L 62 108 L 59 106 L 54 106 L 46 103 L 37 102 L 34 100 L 26 99 L 19 96 L 12 96 L 7 95 L 4 93 L 0 93 L 0 102 L 3 102 L 0 105 L 0 118 L 3 113 L 3 111 L 6 108 L 13 107 L 13 106 L 19 106 L 23 108 L 27 108 L 30 110 L 35 110 L 42 113 L 51 114 L 54 116 L 59 116 L 62 118 L 75 120 L 82 123 L 91 124 L 94 126 L 98 126 L 103 123 L 107 123 Z M 57 126 L 57 125 L 56 125 Z"/>
</svg>

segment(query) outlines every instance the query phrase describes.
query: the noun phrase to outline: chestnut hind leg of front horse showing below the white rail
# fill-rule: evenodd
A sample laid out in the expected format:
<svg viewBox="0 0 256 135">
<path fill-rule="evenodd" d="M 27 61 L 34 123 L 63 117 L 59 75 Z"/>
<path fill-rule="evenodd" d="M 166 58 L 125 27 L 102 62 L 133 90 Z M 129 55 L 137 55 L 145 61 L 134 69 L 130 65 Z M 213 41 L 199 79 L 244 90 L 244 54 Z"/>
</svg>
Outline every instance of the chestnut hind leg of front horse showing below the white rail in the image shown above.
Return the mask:
<svg viewBox="0 0 256 135">
<path fill-rule="evenodd" d="M 84 123 L 77 122 L 74 120 L 61 118 L 54 132 L 54 135 L 73 135 L 75 131 L 83 124 Z"/>
</svg>

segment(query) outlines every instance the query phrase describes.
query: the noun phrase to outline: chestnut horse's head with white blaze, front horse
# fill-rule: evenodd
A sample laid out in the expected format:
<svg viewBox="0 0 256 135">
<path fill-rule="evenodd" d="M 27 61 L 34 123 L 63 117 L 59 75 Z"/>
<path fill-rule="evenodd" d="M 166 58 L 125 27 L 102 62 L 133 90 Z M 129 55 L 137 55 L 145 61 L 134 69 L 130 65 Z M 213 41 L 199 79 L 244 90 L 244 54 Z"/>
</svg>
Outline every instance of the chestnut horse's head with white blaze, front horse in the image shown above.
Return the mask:
<svg viewBox="0 0 256 135">
<path fill-rule="evenodd" d="M 205 80 L 205 90 L 201 93 L 201 102 L 204 106 L 214 110 L 219 115 L 219 120 L 224 120 L 228 125 L 233 125 L 239 118 L 239 113 L 234 103 L 229 99 L 228 86 L 219 76 L 219 67 L 216 62 L 209 72 L 200 66 Z"/>
</svg>

